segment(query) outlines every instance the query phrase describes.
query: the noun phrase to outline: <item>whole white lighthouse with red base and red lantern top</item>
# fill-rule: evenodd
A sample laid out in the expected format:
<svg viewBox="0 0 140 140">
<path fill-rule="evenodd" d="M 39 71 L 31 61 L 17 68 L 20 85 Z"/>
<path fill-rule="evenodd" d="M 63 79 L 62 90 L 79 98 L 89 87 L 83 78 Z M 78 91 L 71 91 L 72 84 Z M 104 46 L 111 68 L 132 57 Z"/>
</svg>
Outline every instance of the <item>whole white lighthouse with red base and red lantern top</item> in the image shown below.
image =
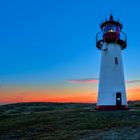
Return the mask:
<svg viewBox="0 0 140 140">
<path fill-rule="evenodd" d="M 96 36 L 96 46 L 101 50 L 98 110 L 128 109 L 121 54 L 127 46 L 127 36 L 122 27 L 110 15 L 100 25 L 101 31 Z"/>
</svg>

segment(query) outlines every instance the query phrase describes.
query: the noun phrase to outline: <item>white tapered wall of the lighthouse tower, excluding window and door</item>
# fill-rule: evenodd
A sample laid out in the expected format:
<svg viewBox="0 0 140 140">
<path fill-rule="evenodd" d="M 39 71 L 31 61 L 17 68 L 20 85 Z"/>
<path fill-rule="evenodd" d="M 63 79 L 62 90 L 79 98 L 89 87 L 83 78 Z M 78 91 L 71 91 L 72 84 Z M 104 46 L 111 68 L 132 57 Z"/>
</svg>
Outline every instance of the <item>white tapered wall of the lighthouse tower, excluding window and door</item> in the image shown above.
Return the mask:
<svg viewBox="0 0 140 140">
<path fill-rule="evenodd" d="M 115 57 L 118 58 L 118 64 L 115 64 Z M 122 105 L 127 105 L 121 46 L 104 43 L 101 50 L 97 105 L 116 105 L 117 92 L 122 95 Z"/>
</svg>

